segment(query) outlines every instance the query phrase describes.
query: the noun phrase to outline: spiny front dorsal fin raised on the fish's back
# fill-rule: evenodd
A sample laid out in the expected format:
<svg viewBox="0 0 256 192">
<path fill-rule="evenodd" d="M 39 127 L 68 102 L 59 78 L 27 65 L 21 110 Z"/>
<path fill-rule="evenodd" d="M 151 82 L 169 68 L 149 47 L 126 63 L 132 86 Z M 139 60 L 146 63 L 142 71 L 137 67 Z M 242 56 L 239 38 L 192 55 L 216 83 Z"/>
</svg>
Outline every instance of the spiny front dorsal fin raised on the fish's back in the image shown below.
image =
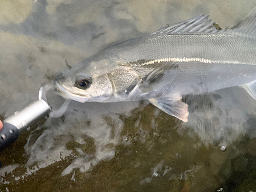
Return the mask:
<svg viewBox="0 0 256 192">
<path fill-rule="evenodd" d="M 183 20 L 182 22 L 176 23 L 172 26 L 164 27 L 150 35 L 168 35 L 174 33 L 217 33 L 214 26 L 215 23 L 208 19 L 209 15 L 199 15 L 188 20 Z"/>
</svg>

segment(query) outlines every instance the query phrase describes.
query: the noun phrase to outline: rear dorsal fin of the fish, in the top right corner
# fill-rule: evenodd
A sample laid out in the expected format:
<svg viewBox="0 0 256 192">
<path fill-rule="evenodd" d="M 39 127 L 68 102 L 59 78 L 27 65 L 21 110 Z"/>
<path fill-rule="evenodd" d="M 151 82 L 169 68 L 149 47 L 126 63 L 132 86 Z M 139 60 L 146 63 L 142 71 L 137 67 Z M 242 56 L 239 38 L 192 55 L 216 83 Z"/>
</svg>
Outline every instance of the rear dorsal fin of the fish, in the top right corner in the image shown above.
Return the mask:
<svg viewBox="0 0 256 192">
<path fill-rule="evenodd" d="M 237 25 L 231 28 L 231 30 L 232 32 L 256 36 L 256 9 L 240 20 Z"/>
</svg>

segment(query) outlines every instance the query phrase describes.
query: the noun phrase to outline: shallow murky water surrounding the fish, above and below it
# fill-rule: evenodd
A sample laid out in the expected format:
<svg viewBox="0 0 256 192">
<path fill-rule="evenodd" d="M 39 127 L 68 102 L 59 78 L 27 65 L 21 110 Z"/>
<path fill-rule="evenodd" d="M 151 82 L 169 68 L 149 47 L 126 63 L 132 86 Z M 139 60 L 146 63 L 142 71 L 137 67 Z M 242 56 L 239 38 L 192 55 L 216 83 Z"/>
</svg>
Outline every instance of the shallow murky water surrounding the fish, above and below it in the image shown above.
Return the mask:
<svg viewBox="0 0 256 192">
<path fill-rule="evenodd" d="M 1 118 L 110 42 L 202 13 L 232 27 L 254 7 L 249 0 L 3 0 Z M 256 102 L 241 88 L 183 99 L 187 123 L 147 102 L 72 102 L 0 154 L 0 190 L 255 191 Z"/>
</svg>

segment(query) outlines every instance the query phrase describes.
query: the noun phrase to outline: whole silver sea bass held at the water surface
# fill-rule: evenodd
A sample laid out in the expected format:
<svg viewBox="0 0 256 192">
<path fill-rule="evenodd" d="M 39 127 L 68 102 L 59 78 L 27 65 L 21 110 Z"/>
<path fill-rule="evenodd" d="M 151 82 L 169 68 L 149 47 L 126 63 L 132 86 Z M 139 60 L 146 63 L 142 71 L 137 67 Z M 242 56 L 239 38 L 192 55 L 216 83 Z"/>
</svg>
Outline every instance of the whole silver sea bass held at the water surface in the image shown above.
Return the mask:
<svg viewBox="0 0 256 192">
<path fill-rule="evenodd" d="M 256 100 L 256 10 L 228 30 L 200 15 L 115 42 L 56 77 L 79 102 L 148 100 L 182 121 L 182 95 L 242 86 Z"/>
</svg>

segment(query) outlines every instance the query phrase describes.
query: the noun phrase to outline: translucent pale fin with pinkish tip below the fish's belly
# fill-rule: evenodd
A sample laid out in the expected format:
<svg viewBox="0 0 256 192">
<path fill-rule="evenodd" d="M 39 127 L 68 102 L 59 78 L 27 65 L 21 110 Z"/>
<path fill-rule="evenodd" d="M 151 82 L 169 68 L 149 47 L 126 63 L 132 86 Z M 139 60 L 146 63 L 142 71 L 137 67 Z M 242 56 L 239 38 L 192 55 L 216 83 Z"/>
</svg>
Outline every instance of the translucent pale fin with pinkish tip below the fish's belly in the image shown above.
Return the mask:
<svg viewBox="0 0 256 192">
<path fill-rule="evenodd" d="M 160 98 L 160 99 L 148 99 L 151 104 L 163 112 L 177 117 L 178 119 L 187 122 L 188 117 L 188 105 L 181 101 L 181 96 Z"/>
</svg>

